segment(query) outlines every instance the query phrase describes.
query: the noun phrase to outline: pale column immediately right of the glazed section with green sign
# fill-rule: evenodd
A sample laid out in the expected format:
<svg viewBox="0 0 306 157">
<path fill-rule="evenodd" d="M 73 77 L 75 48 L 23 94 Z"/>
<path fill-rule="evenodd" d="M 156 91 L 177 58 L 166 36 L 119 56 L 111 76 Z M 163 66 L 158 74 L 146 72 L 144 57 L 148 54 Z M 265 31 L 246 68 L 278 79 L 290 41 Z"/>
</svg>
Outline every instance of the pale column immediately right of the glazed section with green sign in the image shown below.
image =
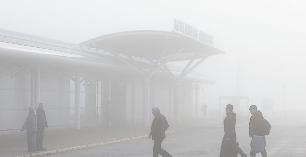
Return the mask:
<svg viewBox="0 0 306 157">
<path fill-rule="evenodd" d="M 110 108 L 108 101 L 112 101 L 112 78 L 104 77 L 102 86 L 102 122 L 104 126 L 109 126 L 108 114 L 110 114 Z"/>
</svg>

